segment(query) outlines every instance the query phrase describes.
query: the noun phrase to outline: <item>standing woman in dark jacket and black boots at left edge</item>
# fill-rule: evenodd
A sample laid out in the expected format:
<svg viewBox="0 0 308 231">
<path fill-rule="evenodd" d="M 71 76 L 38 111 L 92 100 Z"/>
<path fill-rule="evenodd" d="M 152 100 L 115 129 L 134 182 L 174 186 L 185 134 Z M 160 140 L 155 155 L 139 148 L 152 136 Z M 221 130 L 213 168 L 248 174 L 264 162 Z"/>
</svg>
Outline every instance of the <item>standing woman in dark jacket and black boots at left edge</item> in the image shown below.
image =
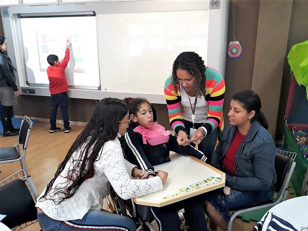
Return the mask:
<svg viewBox="0 0 308 231">
<path fill-rule="evenodd" d="M 16 85 L 15 68 L 10 58 L 4 53 L 7 50 L 6 39 L 0 36 L 0 101 L 2 105 L 1 122 L 3 137 L 17 136 L 20 129 L 12 124 L 12 106 L 17 104 L 19 96 Z"/>
</svg>

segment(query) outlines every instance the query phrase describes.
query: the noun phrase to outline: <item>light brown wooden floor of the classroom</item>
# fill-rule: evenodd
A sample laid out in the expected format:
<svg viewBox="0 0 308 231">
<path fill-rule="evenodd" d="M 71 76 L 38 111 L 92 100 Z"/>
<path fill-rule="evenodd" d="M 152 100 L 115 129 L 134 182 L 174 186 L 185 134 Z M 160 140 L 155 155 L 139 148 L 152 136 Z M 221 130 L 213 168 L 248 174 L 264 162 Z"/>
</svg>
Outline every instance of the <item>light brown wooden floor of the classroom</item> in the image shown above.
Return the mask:
<svg viewBox="0 0 308 231">
<path fill-rule="evenodd" d="M 53 177 L 57 166 L 64 160 L 66 152 L 81 133 L 84 126 L 72 125 L 72 131 L 50 134 L 49 123 L 38 122 L 33 125 L 27 149 L 26 162 L 29 174 L 32 176 L 38 193 L 40 194 L 49 180 Z M 62 129 L 63 130 L 63 129 Z M 0 147 L 13 146 L 17 137 L 0 136 Z M 0 164 L 0 181 L 20 169 L 20 162 Z M 251 231 L 255 222 L 243 222 L 236 219 L 243 231 Z M 39 225 L 30 226 L 27 231 L 39 231 Z"/>
</svg>

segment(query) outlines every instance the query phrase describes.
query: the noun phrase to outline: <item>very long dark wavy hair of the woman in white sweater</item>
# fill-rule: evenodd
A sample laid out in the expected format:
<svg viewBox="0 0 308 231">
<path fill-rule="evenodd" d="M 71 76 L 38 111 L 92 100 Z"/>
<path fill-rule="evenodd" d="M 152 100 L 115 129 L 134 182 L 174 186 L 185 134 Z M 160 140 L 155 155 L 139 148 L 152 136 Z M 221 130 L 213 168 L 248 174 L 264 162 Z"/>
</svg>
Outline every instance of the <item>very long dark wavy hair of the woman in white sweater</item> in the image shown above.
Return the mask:
<svg viewBox="0 0 308 231">
<path fill-rule="evenodd" d="M 68 150 L 64 161 L 59 164 L 56 174 L 46 186 L 41 199 L 46 199 L 46 195 L 51 191 L 51 187 L 65 169 L 66 164 L 72 165 L 67 173 L 66 183 L 61 186 L 54 185 L 54 191 L 51 192 L 51 198 L 56 194 L 60 196 L 59 199 L 50 199 L 55 204 L 71 198 L 85 180 L 93 177 L 94 162 L 98 160 L 104 144 L 117 137 L 119 121 L 127 112 L 128 106 L 121 99 L 104 98 L 98 103 L 85 129 Z"/>
</svg>

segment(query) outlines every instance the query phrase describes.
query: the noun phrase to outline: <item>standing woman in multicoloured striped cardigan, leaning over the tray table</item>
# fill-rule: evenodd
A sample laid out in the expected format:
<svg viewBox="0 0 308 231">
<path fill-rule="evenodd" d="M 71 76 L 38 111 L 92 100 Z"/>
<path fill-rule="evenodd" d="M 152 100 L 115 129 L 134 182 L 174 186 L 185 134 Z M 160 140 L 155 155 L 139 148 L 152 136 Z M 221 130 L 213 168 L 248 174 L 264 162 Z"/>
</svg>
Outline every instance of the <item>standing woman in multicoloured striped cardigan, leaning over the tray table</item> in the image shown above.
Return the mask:
<svg viewBox="0 0 308 231">
<path fill-rule="evenodd" d="M 199 150 L 211 163 L 218 128 L 223 129 L 225 84 L 222 75 L 205 67 L 197 53 L 185 51 L 177 56 L 164 92 L 170 125 L 178 144 L 198 143 Z"/>
</svg>

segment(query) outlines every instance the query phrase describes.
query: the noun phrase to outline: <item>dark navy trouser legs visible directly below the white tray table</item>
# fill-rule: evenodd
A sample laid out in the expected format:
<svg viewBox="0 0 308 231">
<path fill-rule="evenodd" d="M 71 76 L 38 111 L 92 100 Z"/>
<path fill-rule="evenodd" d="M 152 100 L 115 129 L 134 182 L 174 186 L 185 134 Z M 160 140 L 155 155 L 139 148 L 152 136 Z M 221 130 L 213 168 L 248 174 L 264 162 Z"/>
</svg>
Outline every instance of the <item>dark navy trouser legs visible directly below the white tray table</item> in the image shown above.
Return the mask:
<svg viewBox="0 0 308 231">
<path fill-rule="evenodd" d="M 177 211 L 184 208 L 189 231 L 208 231 L 204 210 L 198 197 L 192 197 L 161 208 L 151 207 L 159 231 L 180 231 L 181 221 Z"/>
</svg>

